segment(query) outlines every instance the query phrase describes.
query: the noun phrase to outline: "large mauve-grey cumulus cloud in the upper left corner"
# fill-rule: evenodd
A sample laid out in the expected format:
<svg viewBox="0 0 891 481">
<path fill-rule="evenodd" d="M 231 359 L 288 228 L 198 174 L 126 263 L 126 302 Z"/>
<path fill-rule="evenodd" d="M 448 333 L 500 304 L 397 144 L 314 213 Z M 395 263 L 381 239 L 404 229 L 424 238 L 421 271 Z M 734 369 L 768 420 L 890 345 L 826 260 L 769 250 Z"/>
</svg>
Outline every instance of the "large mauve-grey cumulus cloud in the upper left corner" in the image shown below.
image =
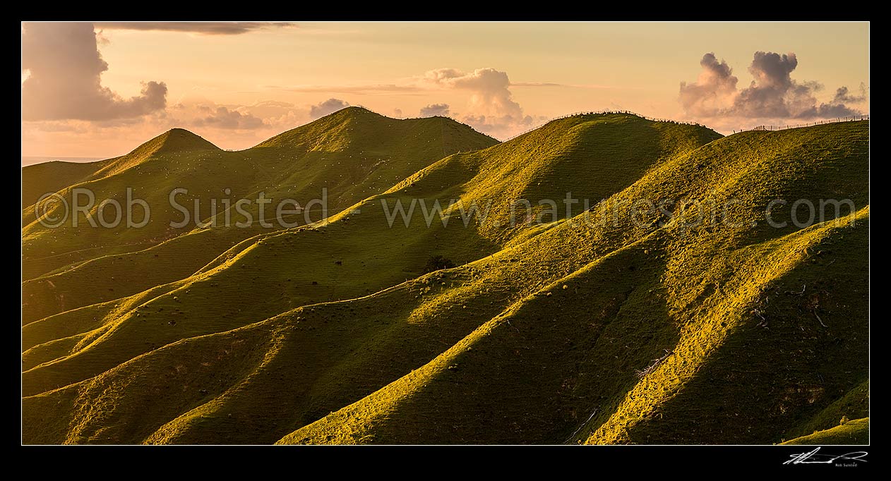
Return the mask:
<svg viewBox="0 0 891 481">
<path fill-rule="evenodd" d="M 167 105 L 163 82 L 145 82 L 141 94 L 124 99 L 102 86 L 107 69 L 92 24 L 22 24 L 22 120 L 135 118 Z"/>
</svg>

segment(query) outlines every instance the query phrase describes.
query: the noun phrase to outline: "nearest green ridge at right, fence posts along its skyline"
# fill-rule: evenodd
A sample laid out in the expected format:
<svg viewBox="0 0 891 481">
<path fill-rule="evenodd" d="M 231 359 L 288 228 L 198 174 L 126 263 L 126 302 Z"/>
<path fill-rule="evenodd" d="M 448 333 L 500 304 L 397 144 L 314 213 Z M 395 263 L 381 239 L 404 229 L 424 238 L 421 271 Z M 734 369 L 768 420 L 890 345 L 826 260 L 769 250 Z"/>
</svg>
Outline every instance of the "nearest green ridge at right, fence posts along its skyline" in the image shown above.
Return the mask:
<svg viewBox="0 0 891 481">
<path fill-rule="evenodd" d="M 756 220 L 760 200 L 804 190 L 793 178 L 806 181 L 814 198 L 838 189 L 866 192 L 866 135 L 865 125 L 759 135 L 758 142 L 734 135 L 666 166 L 674 175 L 644 177 L 629 191 L 668 188 L 691 196 L 724 187 L 722 195 L 753 200 L 740 216 Z M 844 147 L 832 154 L 834 142 Z M 838 176 L 839 164 L 848 175 Z M 756 189 L 753 181 L 761 179 L 772 188 Z M 854 200 L 867 202 L 862 193 Z M 703 228 L 685 238 L 674 223 L 641 232 L 589 257 L 584 268 L 552 276 L 544 288 L 551 295 L 512 303 L 429 363 L 282 442 L 779 441 L 866 374 L 867 212 L 853 229 L 849 221 L 800 232 Z M 547 244 L 565 256 L 584 249 L 571 242 L 579 234 L 597 239 L 567 227 L 538 240 L 560 236 Z M 559 265 L 557 255 L 546 254 L 552 249 L 536 247 L 511 254 L 535 252 L 536 261 Z M 836 281 L 814 288 L 813 277 Z M 803 283 L 817 290 L 804 298 L 788 294 Z M 755 309 L 766 313 L 766 325 Z M 830 328 L 817 321 L 817 310 Z"/>
</svg>

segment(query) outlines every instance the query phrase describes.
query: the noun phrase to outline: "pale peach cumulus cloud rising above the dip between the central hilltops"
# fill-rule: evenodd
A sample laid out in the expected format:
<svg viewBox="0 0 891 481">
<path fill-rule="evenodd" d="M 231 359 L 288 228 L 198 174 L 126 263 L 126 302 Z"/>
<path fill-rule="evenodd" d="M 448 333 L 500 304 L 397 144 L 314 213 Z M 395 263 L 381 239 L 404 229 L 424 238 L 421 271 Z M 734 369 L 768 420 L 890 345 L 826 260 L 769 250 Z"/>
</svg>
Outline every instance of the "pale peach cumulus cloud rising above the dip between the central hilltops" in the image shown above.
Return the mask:
<svg viewBox="0 0 891 481">
<path fill-rule="evenodd" d="M 504 138 L 532 125 L 533 119 L 513 100 L 506 72 L 491 68 L 472 72 L 434 69 L 424 75 L 423 81 L 429 86 L 467 91 L 470 100 L 461 119 L 481 132 Z"/>
</svg>

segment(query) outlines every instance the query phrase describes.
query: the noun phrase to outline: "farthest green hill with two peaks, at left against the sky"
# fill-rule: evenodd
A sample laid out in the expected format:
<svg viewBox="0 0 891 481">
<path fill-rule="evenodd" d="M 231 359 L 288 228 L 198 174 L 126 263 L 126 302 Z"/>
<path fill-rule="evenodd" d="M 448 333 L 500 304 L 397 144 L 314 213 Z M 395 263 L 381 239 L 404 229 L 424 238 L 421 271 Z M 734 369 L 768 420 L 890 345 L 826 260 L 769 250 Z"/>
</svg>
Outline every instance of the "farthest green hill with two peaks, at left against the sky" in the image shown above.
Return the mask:
<svg viewBox="0 0 891 481">
<path fill-rule="evenodd" d="M 133 187 L 150 206 L 158 206 L 152 208 L 150 224 L 140 229 L 47 229 L 32 222 L 23 230 L 25 272 L 33 277 L 26 275 L 23 285 L 23 319 L 33 322 L 184 279 L 241 240 L 281 229 L 258 222 L 249 228 L 235 225 L 243 218 L 227 214 L 223 198 L 234 203 L 264 192 L 269 199 L 307 205 L 325 195 L 332 215 L 444 155 L 494 143 L 451 119 L 396 120 L 360 108 L 340 110 L 240 152 L 220 151 L 197 135 L 174 129 L 114 159 L 94 175 L 98 180 L 78 184 L 93 189 L 97 198 L 120 197 L 124 185 Z M 188 189 L 208 216 L 209 200 L 220 199 L 218 226 L 171 228 L 171 221 L 183 218 L 168 201 L 176 187 Z M 223 187 L 232 193 L 224 195 Z M 192 200 L 177 202 L 190 206 Z M 25 213 L 33 216 L 33 210 Z M 245 210 L 258 219 L 256 203 Z M 141 210 L 136 212 L 138 216 Z M 272 216 L 266 218 L 274 220 Z M 296 223 L 305 217 L 287 220 Z M 314 211 L 309 217 L 315 221 L 322 214 Z M 209 222 L 208 217 L 202 220 Z M 47 251 L 52 255 L 44 256 Z"/>
</svg>

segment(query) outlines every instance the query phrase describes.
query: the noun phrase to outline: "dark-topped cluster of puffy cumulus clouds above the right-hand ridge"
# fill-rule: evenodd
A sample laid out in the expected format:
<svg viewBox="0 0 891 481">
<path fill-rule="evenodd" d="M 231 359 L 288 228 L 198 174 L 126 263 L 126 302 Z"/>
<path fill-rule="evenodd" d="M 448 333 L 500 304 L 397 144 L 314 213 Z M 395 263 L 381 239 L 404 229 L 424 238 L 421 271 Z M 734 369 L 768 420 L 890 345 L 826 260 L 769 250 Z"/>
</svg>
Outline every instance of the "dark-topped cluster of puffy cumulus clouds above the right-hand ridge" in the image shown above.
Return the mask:
<svg viewBox="0 0 891 481">
<path fill-rule="evenodd" d="M 737 88 L 737 77 L 725 61 L 706 53 L 699 61 L 702 72 L 695 83 L 681 83 L 679 101 L 687 114 L 697 118 L 833 118 L 857 115 L 860 110 L 848 106 L 865 100 L 853 96 L 847 87 L 836 91 L 833 99 L 818 102 L 815 93 L 822 85 L 799 82 L 792 78 L 798 66 L 795 53 L 756 52 L 748 72 L 752 82 Z"/>
</svg>

